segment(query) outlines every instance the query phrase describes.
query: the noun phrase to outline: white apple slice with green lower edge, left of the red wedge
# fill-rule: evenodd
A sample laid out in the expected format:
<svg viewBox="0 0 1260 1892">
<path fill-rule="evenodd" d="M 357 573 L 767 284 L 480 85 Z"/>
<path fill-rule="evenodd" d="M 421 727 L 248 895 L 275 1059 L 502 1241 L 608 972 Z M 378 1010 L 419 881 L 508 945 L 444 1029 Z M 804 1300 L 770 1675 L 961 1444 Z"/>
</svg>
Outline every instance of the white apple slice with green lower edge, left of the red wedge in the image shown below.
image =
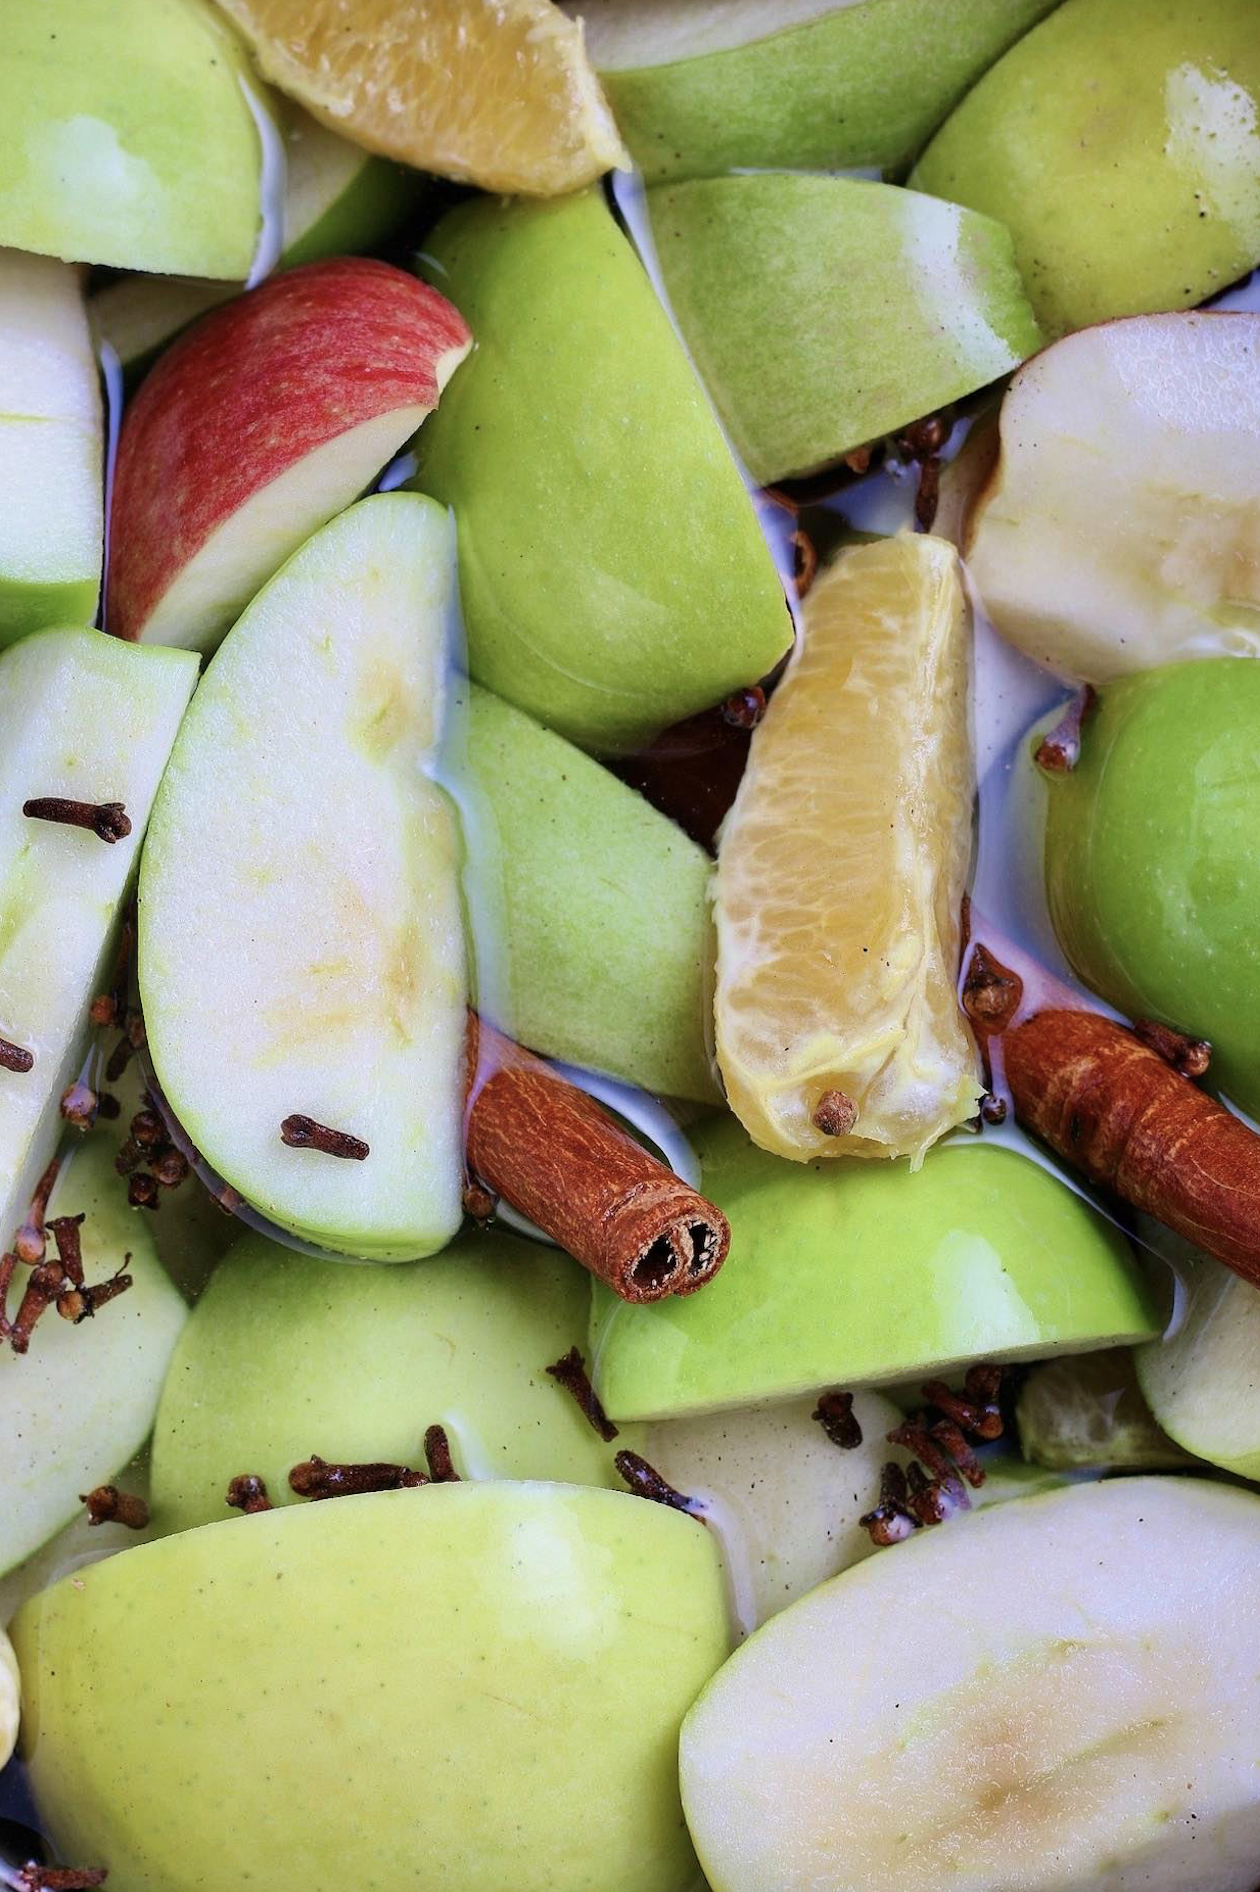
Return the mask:
<svg viewBox="0 0 1260 1892">
<path fill-rule="evenodd" d="M 0 643 L 95 619 L 102 462 L 78 271 L 0 250 Z"/>
</svg>

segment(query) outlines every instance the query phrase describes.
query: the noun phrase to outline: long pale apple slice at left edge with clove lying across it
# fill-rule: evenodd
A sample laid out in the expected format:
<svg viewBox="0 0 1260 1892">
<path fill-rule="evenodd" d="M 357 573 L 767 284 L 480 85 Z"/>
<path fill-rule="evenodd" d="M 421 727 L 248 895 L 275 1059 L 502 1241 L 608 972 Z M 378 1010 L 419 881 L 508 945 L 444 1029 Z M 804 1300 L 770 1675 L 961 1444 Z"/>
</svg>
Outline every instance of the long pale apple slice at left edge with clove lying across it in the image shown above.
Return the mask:
<svg viewBox="0 0 1260 1892">
<path fill-rule="evenodd" d="M 119 910 L 170 745 L 197 683 L 187 651 L 98 630 L 42 630 L 0 653 L 0 1243 L 23 1220 L 87 1048 Z M 119 840 L 23 814 L 28 800 L 123 806 Z M 112 829 L 115 832 L 115 829 Z"/>
</svg>

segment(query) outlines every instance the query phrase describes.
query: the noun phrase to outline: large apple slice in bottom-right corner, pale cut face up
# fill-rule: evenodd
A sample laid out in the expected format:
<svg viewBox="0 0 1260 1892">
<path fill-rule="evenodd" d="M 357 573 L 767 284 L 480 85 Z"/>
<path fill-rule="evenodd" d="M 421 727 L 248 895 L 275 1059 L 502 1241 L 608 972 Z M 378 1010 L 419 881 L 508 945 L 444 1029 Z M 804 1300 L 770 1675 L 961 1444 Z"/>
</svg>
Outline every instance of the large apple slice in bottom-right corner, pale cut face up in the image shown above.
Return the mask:
<svg viewBox="0 0 1260 1892">
<path fill-rule="evenodd" d="M 708 1881 L 1251 1892 L 1256 1621 L 1251 1493 L 1116 1480 L 919 1533 L 778 1616 L 687 1716 Z"/>
</svg>

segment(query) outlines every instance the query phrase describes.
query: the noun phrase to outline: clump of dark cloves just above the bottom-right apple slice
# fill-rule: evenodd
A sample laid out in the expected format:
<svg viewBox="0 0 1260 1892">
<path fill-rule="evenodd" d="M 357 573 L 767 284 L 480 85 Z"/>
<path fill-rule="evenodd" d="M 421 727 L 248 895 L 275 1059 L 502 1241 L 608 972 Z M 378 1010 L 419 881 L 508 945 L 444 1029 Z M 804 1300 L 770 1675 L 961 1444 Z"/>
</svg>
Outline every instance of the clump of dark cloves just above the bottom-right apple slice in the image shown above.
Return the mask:
<svg viewBox="0 0 1260 1892">
<path fill-rule="evenodd" d="M 967 1487 L 984 1483 L 971 1440 L 1003 1434 L 1001 1366 L 972 1366 L 961 1393 L 942 1379 L 923 1385 L 929 1406 L 887 1434 L 889 1445 L 914 1453 L 910 1464 L 889 1461 L 880 1476 L 880 1502 L 861 1519 L 872 1544 L 899 1544 L 919 1525 L 938 1525 L 971 1508 Z"/>
</svg>

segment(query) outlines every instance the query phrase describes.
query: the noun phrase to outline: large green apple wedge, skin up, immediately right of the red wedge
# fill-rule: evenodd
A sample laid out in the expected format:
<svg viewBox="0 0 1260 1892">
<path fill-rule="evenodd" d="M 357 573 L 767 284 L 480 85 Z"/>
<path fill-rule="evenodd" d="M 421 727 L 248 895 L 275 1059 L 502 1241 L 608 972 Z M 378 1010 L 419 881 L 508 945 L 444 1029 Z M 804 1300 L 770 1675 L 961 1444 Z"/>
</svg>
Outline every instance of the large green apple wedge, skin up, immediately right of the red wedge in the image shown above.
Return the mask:
<svg viewBox="0 0 1260 1892">
<path fill-rule="evenodd" d="M 473 677 L 611 751 L 772 670 L 781 581 L 600 193 L 462 204 L 422 271 L 477 337 L 416 441 L 458 518 Z"/>
</svg>

